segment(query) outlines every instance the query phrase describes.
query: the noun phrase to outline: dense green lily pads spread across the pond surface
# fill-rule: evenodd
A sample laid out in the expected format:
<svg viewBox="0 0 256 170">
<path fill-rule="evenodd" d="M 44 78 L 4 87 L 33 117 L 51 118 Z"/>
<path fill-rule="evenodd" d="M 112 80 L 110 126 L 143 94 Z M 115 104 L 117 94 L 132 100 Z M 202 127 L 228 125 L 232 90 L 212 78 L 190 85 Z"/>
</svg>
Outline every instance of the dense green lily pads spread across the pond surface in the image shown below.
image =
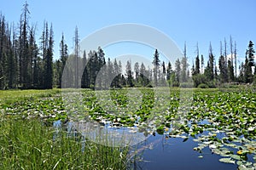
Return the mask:
<svg viewBox="0 0 256 170">
<path fill-rule="evenodd" d="M 134 89 L 67 89 L 11 99 L 0 104 L 1 116 L 39 117 L 48 123 L 90 120 L 102 127 L 127 127 L 129 133 L 145 136 L 160 133 L 166 138 L 183 138 L 183 142 L 194 138 L 198 143 L 194 150 L 202 159 L 203 150 L 208 148 L 222 156 L 221 162 L 235 163 L 243 169 L 255 165 L 253 90 L 160 88 L 158 94 L 154 88 L 130 90 Z"/>
</svg>

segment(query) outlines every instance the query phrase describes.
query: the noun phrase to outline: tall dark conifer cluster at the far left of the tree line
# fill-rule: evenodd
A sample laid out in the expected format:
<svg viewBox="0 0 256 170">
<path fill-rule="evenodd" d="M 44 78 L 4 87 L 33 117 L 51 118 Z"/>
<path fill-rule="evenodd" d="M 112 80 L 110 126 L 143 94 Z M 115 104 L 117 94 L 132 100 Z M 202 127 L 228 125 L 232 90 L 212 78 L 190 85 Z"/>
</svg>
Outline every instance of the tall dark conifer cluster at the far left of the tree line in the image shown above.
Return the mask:
<svg viewBox="0 0 256 170">
<path fill-rule="evenodd" d="M 36 26 L 29 25 L 28 4 L 20 15 L 19 26 L 9 25 L 0 14 L 0 88 L 52 88 L 53 27 L 44 22 L 39 45 Z"/>
</svg>

